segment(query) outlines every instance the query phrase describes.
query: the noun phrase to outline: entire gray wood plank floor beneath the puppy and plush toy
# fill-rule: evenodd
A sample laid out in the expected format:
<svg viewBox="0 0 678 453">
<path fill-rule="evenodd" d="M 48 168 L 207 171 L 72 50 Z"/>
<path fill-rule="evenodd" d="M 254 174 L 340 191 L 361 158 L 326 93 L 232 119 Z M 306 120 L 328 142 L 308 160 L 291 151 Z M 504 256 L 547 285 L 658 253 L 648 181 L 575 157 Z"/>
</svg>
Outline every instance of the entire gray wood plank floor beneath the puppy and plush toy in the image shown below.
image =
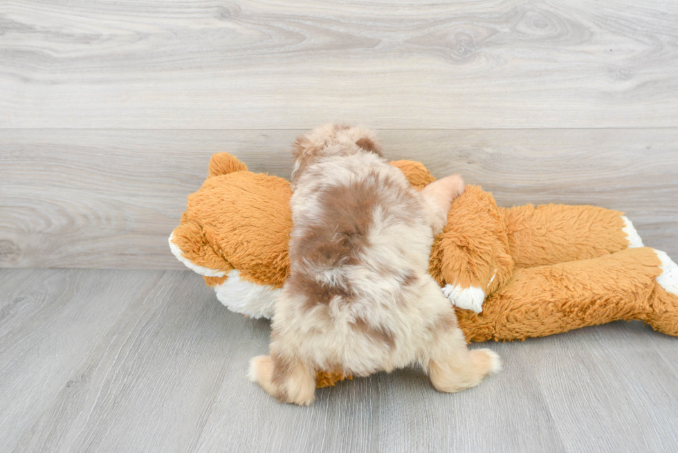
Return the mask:
<svg viewBox="0 0 678 453">
<path fill-rule="evenodd" d="M 678 339 L 640 323 L 488 344 L 504 371 L 459 394 L 406 369 L 310 408 L 244 378 L 268 333 L 189 271 L 0 270 L 0 451 L 678 449 Z"/>
</svg>

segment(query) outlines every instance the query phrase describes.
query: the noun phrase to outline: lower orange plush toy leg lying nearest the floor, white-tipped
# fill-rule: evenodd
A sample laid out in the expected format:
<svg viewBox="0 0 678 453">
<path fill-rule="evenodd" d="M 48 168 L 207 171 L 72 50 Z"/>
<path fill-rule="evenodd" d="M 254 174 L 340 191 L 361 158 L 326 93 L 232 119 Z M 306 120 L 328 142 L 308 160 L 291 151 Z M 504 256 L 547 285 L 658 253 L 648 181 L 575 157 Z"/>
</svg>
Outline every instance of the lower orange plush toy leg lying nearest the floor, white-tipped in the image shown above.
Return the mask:
<svg viewBox="0 0 678 453">
<path fill-rule="evenodd" d="M 678 336 L 678 266 L 652 248 L 515 271 L 483 312 L 457 310 L 466 340 L 524 340 L 605 324 L 643 320 Z"/>
</svg>

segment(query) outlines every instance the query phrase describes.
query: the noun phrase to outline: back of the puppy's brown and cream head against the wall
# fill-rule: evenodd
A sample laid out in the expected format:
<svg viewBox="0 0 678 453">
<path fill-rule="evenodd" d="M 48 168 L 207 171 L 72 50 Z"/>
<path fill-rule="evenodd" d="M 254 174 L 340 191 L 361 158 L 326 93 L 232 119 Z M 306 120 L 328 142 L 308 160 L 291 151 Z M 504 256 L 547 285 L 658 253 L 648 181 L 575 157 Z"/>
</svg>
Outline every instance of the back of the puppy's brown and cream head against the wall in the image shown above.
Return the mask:
<svg viewBox="0 0 678 453">
<path fill-rule="evenodd" d="M 295 189 L 299 177 L 315 160 L 328 156 L 350 156 L 374 153 L 383 157 L 374 132 L 362 126 L 324 124 L 297 138 L 292 147 L 294 169 L 291 186 Z"/>
</svg>

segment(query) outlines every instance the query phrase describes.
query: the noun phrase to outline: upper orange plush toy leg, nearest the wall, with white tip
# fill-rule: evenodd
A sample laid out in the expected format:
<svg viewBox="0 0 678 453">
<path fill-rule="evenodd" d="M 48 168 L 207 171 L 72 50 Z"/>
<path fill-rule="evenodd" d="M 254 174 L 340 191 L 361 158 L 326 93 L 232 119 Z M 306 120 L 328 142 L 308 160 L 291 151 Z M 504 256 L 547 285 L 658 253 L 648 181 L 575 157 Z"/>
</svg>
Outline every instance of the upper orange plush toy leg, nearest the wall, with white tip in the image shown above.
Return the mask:
<svg viewBox="0 0 678 453">
<path fill-rule="evenodd" d="M 516 268 L 602 257 L 643 241 L 622 212 L 595 206 L 500 208 Z"/>
</svg>

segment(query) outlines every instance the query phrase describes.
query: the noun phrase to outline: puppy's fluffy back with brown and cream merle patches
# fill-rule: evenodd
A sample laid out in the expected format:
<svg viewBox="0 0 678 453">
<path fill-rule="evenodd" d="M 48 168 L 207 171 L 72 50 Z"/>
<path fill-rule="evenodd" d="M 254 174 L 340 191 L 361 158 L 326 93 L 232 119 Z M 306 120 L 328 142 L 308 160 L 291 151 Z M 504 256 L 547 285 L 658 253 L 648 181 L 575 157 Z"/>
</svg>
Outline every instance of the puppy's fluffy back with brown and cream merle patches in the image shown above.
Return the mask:
<svg viewBox="0 0 678 453">
<path fill-rule="evenodd" d="M 320 160 L 300 178 L 291 206 L 290 278 L 308 308 L 351 304 L 349 311 L 365 312 L 402 303 L 403 286 L 428 269 L 427 214 L 383 158 Z"/>
</svg>

